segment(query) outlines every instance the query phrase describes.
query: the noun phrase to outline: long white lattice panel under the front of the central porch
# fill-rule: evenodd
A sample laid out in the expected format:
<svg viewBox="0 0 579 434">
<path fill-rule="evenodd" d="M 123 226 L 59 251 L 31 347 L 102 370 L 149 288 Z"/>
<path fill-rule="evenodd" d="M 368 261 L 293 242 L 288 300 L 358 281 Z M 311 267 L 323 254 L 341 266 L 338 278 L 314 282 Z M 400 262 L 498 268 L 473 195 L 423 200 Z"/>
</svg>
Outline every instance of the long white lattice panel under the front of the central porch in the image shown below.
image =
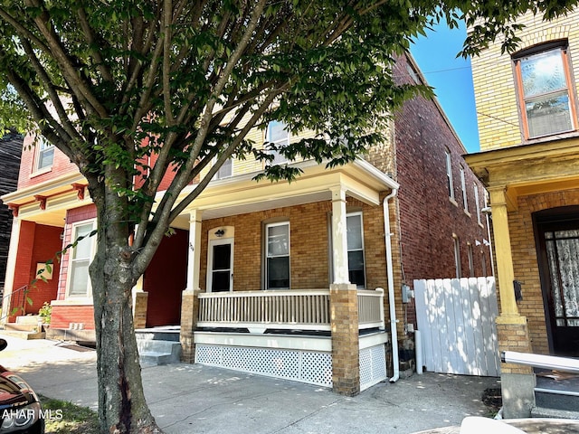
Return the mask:
<svg viewBox="0 0 579 434">
<path fill-rule="evenodd" d="M 329 353 L 196 344 L 195 363 L 332 387 Z"/>
</svg>

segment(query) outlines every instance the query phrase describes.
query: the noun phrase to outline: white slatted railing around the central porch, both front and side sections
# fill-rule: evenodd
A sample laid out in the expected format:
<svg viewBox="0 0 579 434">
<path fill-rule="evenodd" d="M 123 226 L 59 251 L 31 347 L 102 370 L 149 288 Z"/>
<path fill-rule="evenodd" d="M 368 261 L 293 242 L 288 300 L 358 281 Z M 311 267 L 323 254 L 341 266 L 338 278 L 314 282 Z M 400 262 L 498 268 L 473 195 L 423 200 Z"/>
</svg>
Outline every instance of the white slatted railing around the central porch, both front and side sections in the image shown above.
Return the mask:
<svg viewBox="0 0 579 434">
<path fill-rule="evenodd" d="M 358 290 L 359 328 L 384 328 L 384 290 Z M 199 327 L 330 330 L 329 289 L 199 294 Z"/>
</svg>

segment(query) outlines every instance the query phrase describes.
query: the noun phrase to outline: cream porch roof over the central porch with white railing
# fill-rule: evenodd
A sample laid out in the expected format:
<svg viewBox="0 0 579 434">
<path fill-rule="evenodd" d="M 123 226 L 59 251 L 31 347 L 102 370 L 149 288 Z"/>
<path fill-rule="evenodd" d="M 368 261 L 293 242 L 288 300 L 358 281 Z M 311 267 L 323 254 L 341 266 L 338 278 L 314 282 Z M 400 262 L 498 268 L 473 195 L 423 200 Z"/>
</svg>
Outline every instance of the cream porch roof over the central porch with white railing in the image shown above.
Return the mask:
<svg viewBox="0 0 579 434">
<path fill-rule="evenodd" d="M 257 173 L 236 175 L 212 181 L 185 212 L 173 223 L 176 227 L 189 228 L 189 213 L 203 212 L 203 220 L 227 215 L 259 212 L 273 208 L 329 201 L 332 190 L 342 189 L 350 197 L 364 203 L 378 205 L 380 193 L 397 189 L 399 185 L 388 175 L 365 160 L 327 169 L 315 161 L 296 163 L 303 173 L 291 183 L 279 181 L 256 182 Z M 183 192 L 183 197 L 195 185 Z"/>
</svg>

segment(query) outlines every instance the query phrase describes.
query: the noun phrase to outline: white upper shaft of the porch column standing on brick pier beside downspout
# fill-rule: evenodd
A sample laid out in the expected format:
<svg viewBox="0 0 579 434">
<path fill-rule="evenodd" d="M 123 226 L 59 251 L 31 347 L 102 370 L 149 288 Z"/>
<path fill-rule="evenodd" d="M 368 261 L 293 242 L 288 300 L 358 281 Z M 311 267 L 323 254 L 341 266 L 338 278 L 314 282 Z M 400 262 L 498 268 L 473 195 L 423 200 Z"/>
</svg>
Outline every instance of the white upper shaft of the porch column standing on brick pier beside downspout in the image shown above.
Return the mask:
<svg viewBox="0 0 579 434">
<path fill-rule="evenodd" d="M 332 254 L 334 283 L 350 283 L 347 269 L 346 191 L 335 187 L 332 191 Z"/>
</svg>

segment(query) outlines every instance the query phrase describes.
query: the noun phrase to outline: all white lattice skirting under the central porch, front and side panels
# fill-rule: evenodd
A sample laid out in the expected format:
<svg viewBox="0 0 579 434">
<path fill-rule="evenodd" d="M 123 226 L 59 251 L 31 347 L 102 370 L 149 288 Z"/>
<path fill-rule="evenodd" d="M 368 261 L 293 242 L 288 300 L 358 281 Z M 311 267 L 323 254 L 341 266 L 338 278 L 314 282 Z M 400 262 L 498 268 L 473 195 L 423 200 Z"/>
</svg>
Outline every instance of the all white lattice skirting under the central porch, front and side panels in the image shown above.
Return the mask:
<svg viewBox="0 0 579 434">
<path fill-rule="evenodd" d="M 332 354 L 315 351 L 196 344 L 195 363 L 332 387 Z M 387 378 L 384 344 L 360 350 L 360 390 Z"/>
</svg>

